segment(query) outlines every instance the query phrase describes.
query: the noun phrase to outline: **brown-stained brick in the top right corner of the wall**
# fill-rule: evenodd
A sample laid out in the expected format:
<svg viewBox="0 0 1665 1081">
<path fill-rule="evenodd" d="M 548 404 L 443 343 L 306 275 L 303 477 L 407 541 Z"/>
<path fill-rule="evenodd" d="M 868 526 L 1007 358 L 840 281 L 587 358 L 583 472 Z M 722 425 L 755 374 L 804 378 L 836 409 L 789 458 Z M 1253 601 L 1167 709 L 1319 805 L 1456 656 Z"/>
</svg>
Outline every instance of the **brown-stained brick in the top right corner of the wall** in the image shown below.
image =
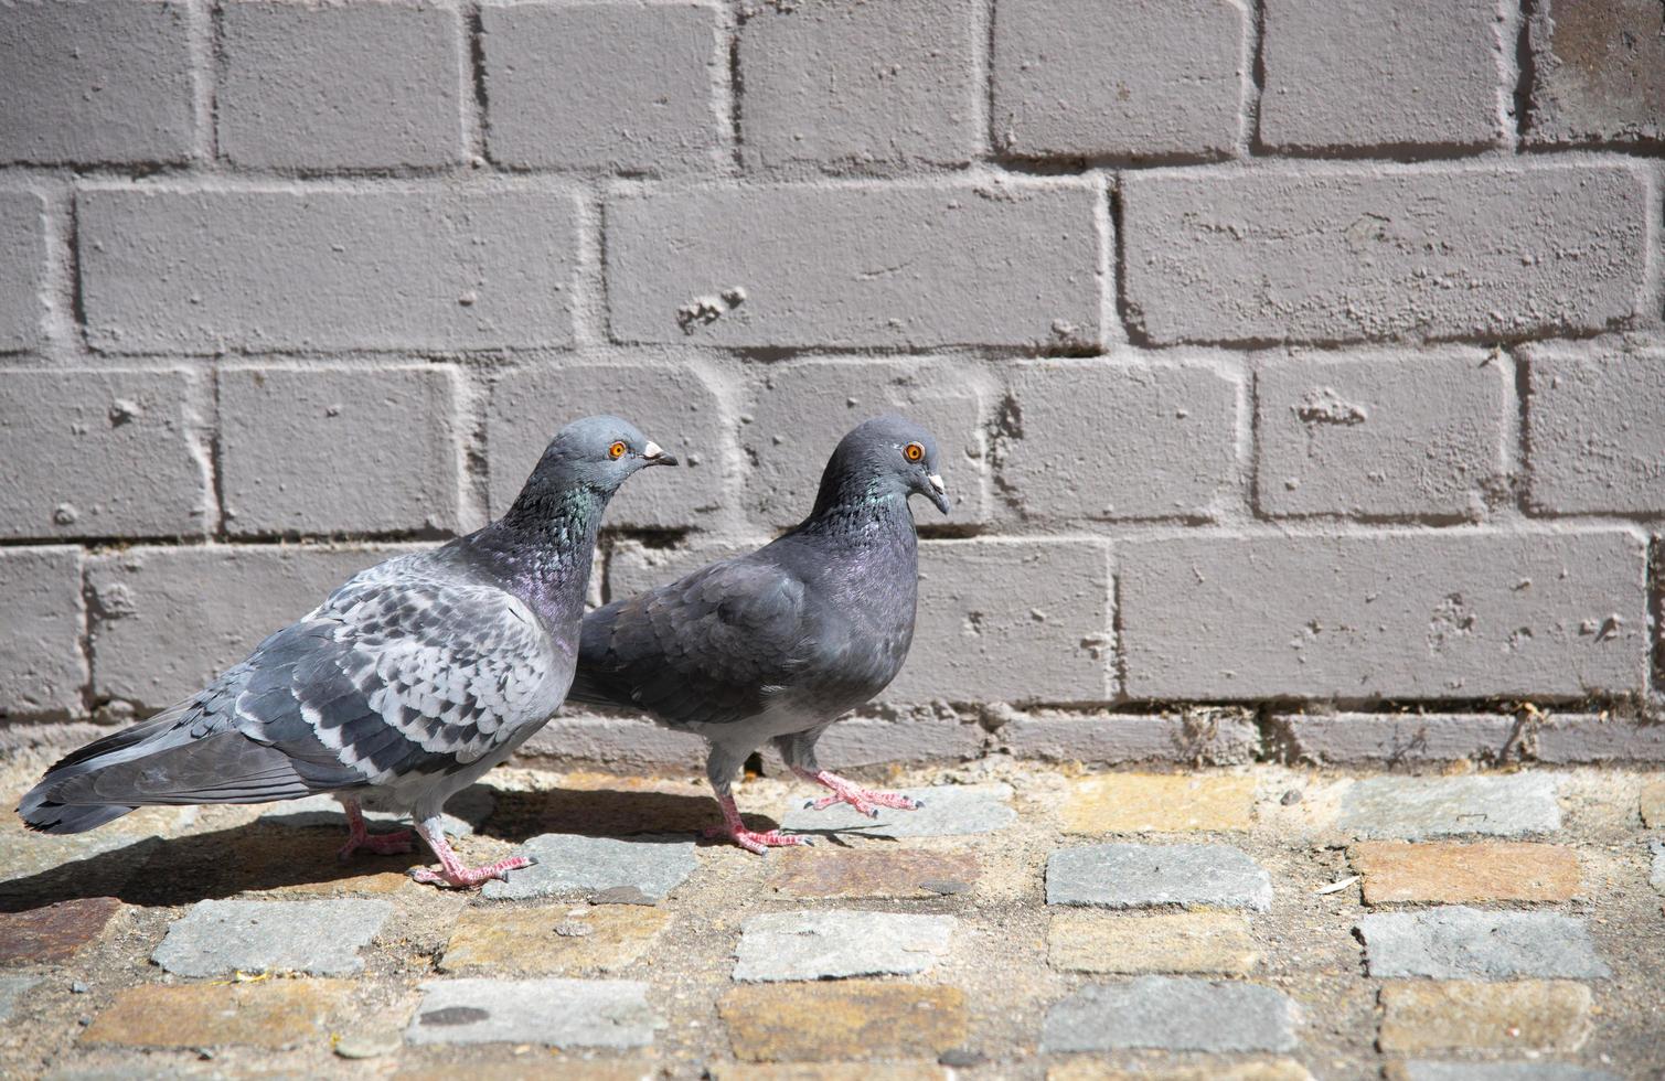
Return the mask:
<svg viewBox="0 0 1665 1081">
<path fill-rule="evenodd" d="M 1665 12 L 1653 0 L 1540 0 L 1530 8 L 1525 142 L 1665 140 Z"/>
</svg>

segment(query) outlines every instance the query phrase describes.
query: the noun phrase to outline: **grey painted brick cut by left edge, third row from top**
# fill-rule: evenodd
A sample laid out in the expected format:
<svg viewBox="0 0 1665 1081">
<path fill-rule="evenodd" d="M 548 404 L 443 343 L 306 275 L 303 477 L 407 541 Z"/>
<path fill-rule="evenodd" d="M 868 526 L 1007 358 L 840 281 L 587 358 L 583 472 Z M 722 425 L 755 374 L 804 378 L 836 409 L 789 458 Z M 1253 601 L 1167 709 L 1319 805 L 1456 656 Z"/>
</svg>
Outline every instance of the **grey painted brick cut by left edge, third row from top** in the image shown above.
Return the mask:
<svg viewBox="0 0 1665 1081">
<path fill-rule="evenodd" d="M 0 536 L 201 536 L 206 396 L 181 370 L 0 373 Z"/>
</svg>

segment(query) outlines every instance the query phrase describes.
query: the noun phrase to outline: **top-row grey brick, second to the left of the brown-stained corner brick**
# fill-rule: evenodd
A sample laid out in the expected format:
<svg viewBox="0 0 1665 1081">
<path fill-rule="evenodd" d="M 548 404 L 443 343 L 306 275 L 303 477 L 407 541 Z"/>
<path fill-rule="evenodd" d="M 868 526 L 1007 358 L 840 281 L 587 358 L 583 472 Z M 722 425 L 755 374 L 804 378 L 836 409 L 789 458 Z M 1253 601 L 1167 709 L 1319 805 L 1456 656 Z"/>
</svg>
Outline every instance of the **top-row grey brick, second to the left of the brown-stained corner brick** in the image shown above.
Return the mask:
<svg viewBox="0 0 1665 1081">
<path fill-rule="evenodd" d="M 1024 158 L 1219 158 L 1237 145 L 1235 0 L 999 0 L 994 138 Z"/>
</svg>

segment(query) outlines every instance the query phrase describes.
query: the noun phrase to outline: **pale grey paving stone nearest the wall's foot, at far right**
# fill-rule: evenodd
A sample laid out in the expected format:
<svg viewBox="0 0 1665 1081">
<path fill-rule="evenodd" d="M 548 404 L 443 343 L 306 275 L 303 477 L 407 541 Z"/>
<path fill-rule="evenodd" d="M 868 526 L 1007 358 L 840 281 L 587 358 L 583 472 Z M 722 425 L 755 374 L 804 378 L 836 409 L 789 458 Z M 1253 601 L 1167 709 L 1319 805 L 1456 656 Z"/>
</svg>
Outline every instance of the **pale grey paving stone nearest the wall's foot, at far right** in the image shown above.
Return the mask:
<svg viewBox="0 0 1665 1081">
<path fill-rule="evenodd" d="M 1507 776 L 1375 776 L 1342 796 L 1337 824 L 1359 838 L 1420 841 L 1484 833 L 1522 836 L 1560 829 L 1555 780 Z"/>
</svg>

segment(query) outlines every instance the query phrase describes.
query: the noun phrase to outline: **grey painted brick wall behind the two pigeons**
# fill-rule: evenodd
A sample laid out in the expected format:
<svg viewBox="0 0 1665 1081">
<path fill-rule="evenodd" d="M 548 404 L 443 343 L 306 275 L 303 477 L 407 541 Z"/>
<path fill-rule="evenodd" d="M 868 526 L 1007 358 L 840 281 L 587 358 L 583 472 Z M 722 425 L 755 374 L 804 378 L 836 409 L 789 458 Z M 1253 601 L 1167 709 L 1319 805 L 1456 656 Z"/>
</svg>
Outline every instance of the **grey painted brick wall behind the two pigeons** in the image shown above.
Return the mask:
<svg viewBox="0 0 1665 1081">
<path fill-rule="evenodd" d="M 576 415 L 689 463 L 608 596 L 904 410 L 957 508 L 832 758 L 1658 756 L 1660 12 L 7 5 L 0 743 L 168 705 Z"/>
</svg>

